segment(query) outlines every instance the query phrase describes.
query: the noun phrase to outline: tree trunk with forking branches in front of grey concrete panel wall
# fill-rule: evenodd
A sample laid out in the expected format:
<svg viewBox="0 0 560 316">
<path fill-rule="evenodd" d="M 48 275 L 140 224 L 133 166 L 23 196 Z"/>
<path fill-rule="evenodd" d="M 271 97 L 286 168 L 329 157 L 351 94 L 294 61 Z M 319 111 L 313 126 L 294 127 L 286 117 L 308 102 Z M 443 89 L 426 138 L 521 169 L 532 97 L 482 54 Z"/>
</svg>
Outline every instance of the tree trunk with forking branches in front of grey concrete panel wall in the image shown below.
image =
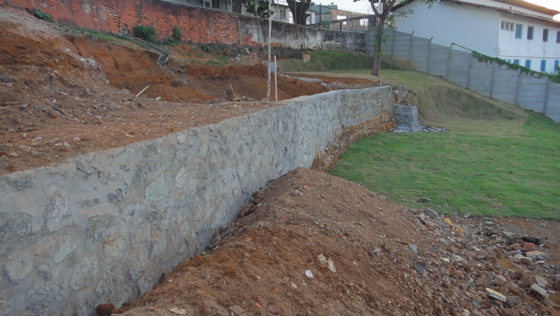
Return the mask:
<svg viewBox="0 0 560 316">
<path fill-rule="evenodd" d="M 354 2 L 360 0 L 353 0 Z M 377 17 L 375 25 L 375 40 L 373 45 L 373 65 L 372 65 L 372 75 L 379 76 L 379 69 L 381 68 L 381 45 L 386 43 L 388 40 L 388 35 L 384 32 L 385 22 L 390 18 L 391 11 L 397 3 L 397 0 L 369 0 L 372 6 L 373 13 Z M 400 1 L 400 4 L 407 4 L 410 0 Z M 422 4 L 427 4 L 428 8 L 431 8 L 433 4 L 440 0 L 418 0 Z M 413 14 L 412 10 L 403 10 L 394 13 L 393 17 L 405 17 L 406 15 Z"/>
</svg>

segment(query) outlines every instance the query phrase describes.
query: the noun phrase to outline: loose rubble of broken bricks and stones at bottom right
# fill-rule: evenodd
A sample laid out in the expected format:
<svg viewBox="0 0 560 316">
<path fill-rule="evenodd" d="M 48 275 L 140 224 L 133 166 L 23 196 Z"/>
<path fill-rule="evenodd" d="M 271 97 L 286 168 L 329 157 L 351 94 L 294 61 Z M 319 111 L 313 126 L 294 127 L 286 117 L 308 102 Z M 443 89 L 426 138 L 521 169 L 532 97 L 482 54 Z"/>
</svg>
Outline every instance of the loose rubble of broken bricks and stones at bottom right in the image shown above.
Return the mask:
<svg viewBox="0 0 560 316">
<path fill-rule="evenodd" d="M 494 221 L 468 215 L 454 223 L 431 209 L 412 212 L 442 244 L 437 249 L 440 259 L 434 259 L 434 268 L 423 275 L 431 273 L 444 289 L 451 289 L 448 296 L 442 291 L 438 301 L 461 305 L 462 312 L 456 310 L 462 316 L 556 315 L 549 308 L 558 305 L 549 296 L 560 289 L 560 266 L 547 262 L 552 259 L 545 249 L 547 240 L 505 231 Z"/>
</svg>

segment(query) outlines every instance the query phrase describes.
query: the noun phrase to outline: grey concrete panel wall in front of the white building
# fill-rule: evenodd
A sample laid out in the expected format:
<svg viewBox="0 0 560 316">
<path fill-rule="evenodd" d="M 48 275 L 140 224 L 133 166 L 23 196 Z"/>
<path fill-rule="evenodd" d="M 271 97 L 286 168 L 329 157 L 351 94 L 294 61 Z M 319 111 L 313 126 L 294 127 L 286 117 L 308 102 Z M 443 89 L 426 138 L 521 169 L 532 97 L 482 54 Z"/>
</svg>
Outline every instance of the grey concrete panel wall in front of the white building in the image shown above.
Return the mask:
<svg viewBox="0 0 560 316">
<path fill-rule="evenodd" d="M 479 62 L 470 52 L 435 45 L 431 39 L 414 34 L 395 29 L 386 32 L 391 34 L 391 39 L 383 46 L 388 60 L 442 76 L 486 97 L 543 113 L 560 122 L 560 83 L 495 63 Z M 373 53 L 374 33 L 367 36 L 367 51 Z"/>
</svg>

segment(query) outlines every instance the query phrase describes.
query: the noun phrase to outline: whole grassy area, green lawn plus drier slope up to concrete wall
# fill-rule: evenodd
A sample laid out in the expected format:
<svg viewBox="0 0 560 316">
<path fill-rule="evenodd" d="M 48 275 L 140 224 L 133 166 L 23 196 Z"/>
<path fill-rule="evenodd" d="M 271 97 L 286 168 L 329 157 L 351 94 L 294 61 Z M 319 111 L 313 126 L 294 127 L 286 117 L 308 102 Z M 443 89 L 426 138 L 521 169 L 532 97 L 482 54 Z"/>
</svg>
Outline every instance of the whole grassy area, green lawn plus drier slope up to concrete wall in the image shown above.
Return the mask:
<svg viewBox="0 0 560 316">
<path fill-rule="evenodd" d="M 560 219 L 559 124 L 418 71 L 381 75 L 412 88 L 421 123 L 451 132 L 374 134 L 331 174 L 411 207 Z"/>
</svg>

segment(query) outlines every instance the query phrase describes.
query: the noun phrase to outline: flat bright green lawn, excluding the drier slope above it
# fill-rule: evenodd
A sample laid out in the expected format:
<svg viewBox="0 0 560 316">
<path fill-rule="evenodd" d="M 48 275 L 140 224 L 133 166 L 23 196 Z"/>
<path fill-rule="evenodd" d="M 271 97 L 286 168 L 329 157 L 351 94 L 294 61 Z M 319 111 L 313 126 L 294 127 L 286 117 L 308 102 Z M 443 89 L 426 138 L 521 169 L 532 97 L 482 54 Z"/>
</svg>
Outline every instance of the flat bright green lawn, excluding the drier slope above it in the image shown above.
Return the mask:
<svg viewBox="0 0 560 316">
<path fill-rule="evenodd" d="M 491 121 L 477 125 L 486 126 L 484 133 L 376 133 L 351 144 L 330 174 L 409 207 L 560 219 L 560 125 L 540 114 L 526 117 L 510 124 L 511 137 Z"/>
</svg>

